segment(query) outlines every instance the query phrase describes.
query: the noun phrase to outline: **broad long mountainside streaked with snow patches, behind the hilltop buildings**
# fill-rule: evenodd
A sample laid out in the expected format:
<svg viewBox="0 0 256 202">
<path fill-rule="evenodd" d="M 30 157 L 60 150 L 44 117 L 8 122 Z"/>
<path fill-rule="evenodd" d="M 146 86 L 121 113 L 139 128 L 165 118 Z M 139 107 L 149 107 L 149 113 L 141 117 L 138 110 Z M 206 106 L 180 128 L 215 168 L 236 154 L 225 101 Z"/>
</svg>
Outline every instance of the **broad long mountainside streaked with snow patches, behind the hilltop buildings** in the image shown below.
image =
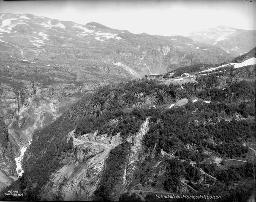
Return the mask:
<svg viewBox="0 0 256 202">
<path fill-rule="evenodd" d="M 24 72 L 33 66 L 47 76 L 50 71 L 54 80 L 72 74 L 79 81 L 116 81 L 229 58 L 220 48 L 188 37 L 135 35 L 96 22 L 82 25 L 31 14 L 0 14 L 0 44 L 2 68 L 22 64 L 17 69 Z"/>
</svg>

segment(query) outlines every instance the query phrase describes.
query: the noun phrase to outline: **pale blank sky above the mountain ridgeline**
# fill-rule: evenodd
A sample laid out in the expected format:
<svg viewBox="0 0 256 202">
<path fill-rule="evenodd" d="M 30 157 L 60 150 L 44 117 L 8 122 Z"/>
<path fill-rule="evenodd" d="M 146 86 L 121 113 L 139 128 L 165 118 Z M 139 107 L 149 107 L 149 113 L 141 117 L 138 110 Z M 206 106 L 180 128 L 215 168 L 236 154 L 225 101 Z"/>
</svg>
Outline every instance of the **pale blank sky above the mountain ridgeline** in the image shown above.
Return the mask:
<svg viewBox="0 0 256 202">
<path fill-rule="evenodd" d="M 151 35 L 188 35 L 218 25 L 255 29 L 256 0 L 1 1 L 0 13 L 31 13 Z"/>
</svg>

